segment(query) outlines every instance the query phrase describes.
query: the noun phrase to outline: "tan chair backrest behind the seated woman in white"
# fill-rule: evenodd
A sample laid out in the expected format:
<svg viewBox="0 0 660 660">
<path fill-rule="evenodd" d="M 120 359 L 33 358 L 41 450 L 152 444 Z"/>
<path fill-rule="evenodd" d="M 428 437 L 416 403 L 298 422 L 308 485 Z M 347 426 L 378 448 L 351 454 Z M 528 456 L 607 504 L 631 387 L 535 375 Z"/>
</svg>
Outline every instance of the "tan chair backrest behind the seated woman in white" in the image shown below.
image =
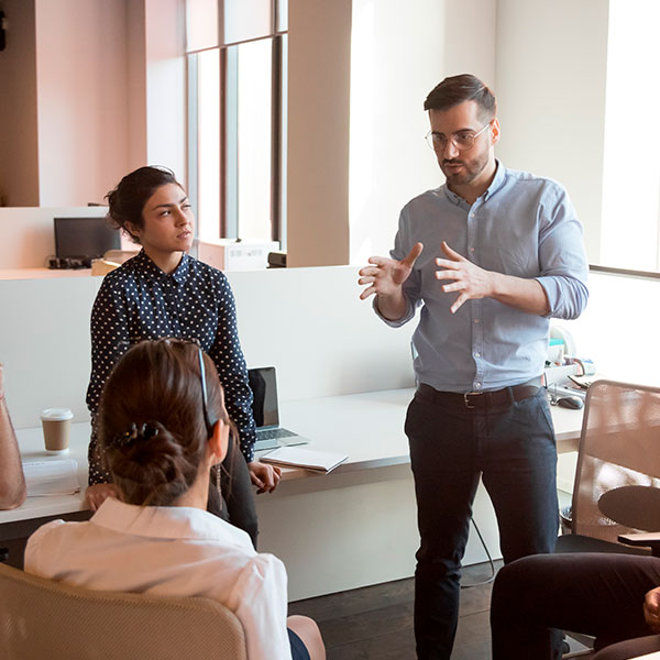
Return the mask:
<svg viewBox="0 0 660 660">
<path fill-rule="evenodd" d="M 4 660 L 245 660 L 237 616 L 208 598 L 100 592 L 0 564 Z"/>
</svg>

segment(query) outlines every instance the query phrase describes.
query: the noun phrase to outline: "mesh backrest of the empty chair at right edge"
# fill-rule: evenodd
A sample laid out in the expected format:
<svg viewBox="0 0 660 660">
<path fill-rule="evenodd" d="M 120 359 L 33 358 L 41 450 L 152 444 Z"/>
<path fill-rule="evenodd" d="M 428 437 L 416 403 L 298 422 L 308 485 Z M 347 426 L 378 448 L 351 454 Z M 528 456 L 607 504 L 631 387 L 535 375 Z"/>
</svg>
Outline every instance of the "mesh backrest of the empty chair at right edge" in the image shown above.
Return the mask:
<svg viewBox="0 0 660 660">
<path fill-rule="evenodd" d="M 596 381 L 584 407 L 573 534 L 616 542 L 619 534 L 658 531 L 626 527 L 603 514 L 601 497 L 624 486 L 660 487 L 660 388 Z"/>
</svg>

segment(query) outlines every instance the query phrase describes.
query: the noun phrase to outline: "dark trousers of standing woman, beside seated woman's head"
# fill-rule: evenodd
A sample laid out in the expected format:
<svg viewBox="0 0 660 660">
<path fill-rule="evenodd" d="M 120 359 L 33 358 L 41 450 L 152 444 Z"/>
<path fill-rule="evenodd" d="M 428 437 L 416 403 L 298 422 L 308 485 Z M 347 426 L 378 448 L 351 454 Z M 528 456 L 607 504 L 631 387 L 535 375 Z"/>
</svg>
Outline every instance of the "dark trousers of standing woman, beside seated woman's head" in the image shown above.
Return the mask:
<svg viewBox="0 0 660 660">
<path fill-rule="evenodd" d="M 246 531 L 256 550 L 258 522 L 254 507 L 254 490 L 250 471 L 243 454 L 233 438 L 229 440 L 227 457 L 222 461 L 220 473 L 220 491 L 218 492 L 216 469 L 211 470 L 209 483 L 209 501 L 207 509 L 234 527 Z"/>
</svg>

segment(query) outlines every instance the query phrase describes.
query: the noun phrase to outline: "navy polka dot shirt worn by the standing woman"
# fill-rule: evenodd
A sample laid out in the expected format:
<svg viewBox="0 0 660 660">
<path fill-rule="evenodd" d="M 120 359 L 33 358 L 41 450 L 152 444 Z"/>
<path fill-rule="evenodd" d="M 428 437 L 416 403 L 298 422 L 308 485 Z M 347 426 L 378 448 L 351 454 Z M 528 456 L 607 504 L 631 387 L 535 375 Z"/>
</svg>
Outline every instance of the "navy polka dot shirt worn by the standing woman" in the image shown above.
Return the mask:
<svg viewBox="0 0 660 660">
<path fill-rule="evenodd" d="M 90 484 L 112 481 L 96 433 L 103 383 L 129 345 L 163 337 L 199 341 L 218 370 L 227 410 L 239 429 L 241 451 L 246 461 L 254 457 L 252 391 L 227 277 L 187 254 L 167 275 L 142 250 L 106 275 L 91 310 L 91 375 L 87 388 L 92 420 Z"/>
</svg>

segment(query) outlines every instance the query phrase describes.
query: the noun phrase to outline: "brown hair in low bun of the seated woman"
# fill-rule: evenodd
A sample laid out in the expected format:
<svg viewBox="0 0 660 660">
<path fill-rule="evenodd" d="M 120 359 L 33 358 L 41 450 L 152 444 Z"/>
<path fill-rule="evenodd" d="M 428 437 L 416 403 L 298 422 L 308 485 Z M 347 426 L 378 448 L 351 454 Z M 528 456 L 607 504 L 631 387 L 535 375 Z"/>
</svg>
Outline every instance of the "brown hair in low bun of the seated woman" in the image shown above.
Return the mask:
<svg viewBox="0 0 660 660">
<path fill-rule="evenodd" d="M 162 339 L 135 344 L 106 381 L 99 437 L 113 482 L 129 504 L 168 506 L 197 479 L 209 427 L 230 424 L 218 372 L 199 348 Z"/>
</svg>

